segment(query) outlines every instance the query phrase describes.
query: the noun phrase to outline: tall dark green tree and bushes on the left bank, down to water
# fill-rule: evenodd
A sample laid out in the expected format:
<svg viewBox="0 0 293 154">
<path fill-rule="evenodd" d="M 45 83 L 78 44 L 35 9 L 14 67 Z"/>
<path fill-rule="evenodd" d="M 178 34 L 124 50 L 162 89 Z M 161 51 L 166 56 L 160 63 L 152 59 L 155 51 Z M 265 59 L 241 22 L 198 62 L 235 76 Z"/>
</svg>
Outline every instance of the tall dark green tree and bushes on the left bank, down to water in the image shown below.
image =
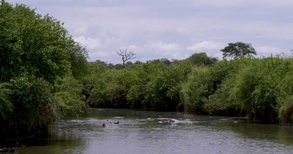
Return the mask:
<svg viewBox="0 0 293 154">
<path fill-rule="evenodd" d="M 63 23 L 30 7 L 3 3 L 0 13 L 1 139 L 45 130 L 82 111 L 83 87 L 75 79 L 87 72 L 86 49 Z"/>
</svg>

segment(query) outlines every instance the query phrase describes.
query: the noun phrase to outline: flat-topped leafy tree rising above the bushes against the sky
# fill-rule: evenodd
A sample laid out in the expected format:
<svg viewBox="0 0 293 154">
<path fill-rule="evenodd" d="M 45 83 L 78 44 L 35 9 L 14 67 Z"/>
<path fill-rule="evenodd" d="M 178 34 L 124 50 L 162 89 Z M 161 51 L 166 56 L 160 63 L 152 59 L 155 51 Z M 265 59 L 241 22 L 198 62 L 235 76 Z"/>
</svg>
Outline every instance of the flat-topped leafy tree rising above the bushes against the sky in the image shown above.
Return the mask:
<svg viewBox="0 0 293 154">
<path fill-rule="evenodd" d="M 224 57 L 244 57 L 248 55 L 256 55 L 254 48 L 251 44 L 237 42 L 229 43 L 227 47 L 221 50 Z"/>
</svg>

